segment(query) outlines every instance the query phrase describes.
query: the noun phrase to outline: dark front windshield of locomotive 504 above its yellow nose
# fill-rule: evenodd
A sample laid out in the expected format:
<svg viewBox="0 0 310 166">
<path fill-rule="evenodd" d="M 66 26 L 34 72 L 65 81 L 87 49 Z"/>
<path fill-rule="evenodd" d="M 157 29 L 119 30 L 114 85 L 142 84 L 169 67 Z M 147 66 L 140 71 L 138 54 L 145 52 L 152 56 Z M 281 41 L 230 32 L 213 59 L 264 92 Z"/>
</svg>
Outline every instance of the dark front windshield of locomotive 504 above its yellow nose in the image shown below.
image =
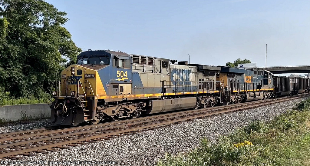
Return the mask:
<svg viewBox="0 0 310 166">
<path fill-rule="evenodd" d="M 78 58 L 78 65 L 89 64 L 89 65 L 109 65 L 110 56 L 107 55 L 91 55 L 89 58 L 81 57 Z"/>
</svg>

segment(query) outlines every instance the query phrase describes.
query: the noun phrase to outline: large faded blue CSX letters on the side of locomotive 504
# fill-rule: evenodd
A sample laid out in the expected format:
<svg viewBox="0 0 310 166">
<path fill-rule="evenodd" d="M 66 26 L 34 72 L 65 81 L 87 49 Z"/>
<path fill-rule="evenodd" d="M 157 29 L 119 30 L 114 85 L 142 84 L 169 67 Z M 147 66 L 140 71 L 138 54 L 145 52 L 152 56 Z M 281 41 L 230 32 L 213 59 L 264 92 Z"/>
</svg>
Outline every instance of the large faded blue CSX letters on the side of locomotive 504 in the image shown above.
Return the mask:
<svg viewBox="0 0 310 166">
<path fill-rule="evenodd" d="M 191 82 L 174 82 L 174 81 L 190 81 L 190 74 L 192 73 L 191 70 L 186 69 L 173 69 L 171 70 L 171 82 L 179 85 L 190 85 Z"/>
</svg>

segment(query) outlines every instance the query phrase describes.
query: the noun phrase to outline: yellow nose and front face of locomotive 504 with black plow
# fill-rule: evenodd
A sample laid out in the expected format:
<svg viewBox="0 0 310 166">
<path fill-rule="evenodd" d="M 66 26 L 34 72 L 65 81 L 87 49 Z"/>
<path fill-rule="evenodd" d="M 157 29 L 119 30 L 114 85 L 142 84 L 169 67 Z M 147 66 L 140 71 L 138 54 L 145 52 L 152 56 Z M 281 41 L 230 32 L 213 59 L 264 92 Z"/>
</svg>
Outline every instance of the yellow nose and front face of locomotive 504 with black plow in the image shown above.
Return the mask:
<svg viewBox="0 0 310 166">
<path fill-rule="evenodd" d="M 58 91 L 53 92 L 55 101 L 50 105 L 52 123 L 96 122 L 96 96 L 106 96 L 98 70 L 106 70 L 110 59 L 111 55 L 103 51 L 82 52 L 76 65 L 61 72 Z"/>
</svg>

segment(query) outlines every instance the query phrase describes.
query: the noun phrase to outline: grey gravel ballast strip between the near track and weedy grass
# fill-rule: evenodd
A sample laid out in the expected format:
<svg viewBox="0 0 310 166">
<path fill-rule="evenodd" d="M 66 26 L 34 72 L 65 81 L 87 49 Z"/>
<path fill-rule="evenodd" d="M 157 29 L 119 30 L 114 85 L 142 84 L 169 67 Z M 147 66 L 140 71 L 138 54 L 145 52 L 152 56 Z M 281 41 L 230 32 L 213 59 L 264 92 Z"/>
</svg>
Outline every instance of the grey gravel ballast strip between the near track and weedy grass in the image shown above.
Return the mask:
<svg viewBox="0 0 310 166">
<path fill-rule="evenodd" d="M 111 161 L 115 165 L 156 165 L 165 153 L 176 155 L 199 147 L 200 138 L 215 142 L 219 136 L 257 120 L 269 121 L 293 108 L 303 99 L 276 103 L 259 108 L 171 125 L 125 137 L 88 143 L 78 147 L 24 157 L 23 161 L 60 161 L 55 165 L 74 165 L 63 161 Z M 8 159 L 2 159 L 8 160 Z M 27 164 L 28 165 L 28 164 Z M 36 164 L 33 164 L 36 165 Z M 91 164 L 108 165 L 108 164 Z"/>
</svg>

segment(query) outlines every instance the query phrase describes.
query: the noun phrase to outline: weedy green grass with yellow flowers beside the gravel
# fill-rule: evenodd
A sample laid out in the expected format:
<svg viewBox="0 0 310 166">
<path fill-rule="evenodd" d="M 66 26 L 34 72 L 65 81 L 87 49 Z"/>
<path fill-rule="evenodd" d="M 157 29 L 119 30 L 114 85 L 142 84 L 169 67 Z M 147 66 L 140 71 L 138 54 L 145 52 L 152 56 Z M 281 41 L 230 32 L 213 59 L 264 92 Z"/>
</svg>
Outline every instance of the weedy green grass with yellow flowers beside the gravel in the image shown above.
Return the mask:
<svg viewBox="0 0 310 166">
<path fill-rule="evenodd" d="M 223 136 L 217 144 L 201 140 L 199 149 L 173 156 L 166 165 L 310 165 L 310 99 L 269 123 L 255 122 Z"/>
</svg>

